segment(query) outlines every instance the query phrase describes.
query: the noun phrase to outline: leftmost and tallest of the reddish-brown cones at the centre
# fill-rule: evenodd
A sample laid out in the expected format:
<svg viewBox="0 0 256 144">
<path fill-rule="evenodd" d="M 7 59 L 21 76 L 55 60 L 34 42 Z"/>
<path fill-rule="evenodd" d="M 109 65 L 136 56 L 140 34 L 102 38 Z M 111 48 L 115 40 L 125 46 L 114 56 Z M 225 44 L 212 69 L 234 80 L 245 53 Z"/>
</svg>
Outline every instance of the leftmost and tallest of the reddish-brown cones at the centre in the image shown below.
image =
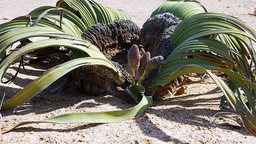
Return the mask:
<svg viewBox="0 0 256 144">
<path fill-rule="evenodd" d="M 128 52 L 128 62 L 132 71 L 132 77 L 135 77 L 135 72 L 140 67 L 140 50 L 138 45 L 132 45 Z"/>
</svg>

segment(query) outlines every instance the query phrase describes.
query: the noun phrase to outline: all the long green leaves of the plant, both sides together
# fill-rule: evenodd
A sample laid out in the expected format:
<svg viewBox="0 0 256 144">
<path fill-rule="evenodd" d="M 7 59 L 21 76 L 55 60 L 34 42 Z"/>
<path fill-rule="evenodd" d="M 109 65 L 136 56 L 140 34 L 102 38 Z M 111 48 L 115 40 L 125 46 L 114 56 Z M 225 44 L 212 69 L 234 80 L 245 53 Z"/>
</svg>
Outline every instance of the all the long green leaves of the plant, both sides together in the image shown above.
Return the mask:
<svg viewBox="0 0 256 144">
<path fill-rule="evenodd" d="M 1 79 L 13 61 L 31 51 L 49 47 L 58 49 L 62 46 L 70 48 L 76 57 L 74 60 L 67 61 L 47 71 L 44 76 L 36 79 L 12 99 L 5 102 L 3 109 L 19 106 L 37 93 L 42 92 L 70 70 L 83 65 L 100 65 L 108 68 L 115 76 L 116 81 L 120 81 L 120 75 L 113 63 L 97 47 L 81 39 L 81 33 L 97 22 L 108 24 L 115 19 L 131 19 L 131 17 L 124 11 L 111 10 L 92 0 L 61 0 L 58 1 L 57 6 L 59 7 L 37 8 L 29 14 L 30 16 L 18 17 L 11 22 L 0 25 L 0 58 L 3 60 L 0 64 Z M 175 49 L 159 68 L 159 73 L 151 84 L 150 91 L 154 92 L 157 88 L 165 86 L 179 76 L 191 73 L 209 74 L 223 91 L 228 106 L 241 116 L 244 126 L 255 135 L 256 86 L 254 65 L 256 56 L 252 42 L 256 41 L 256 32 L 235 17 L 220 13 L 207 13 L 204 6 L 200 5 L 198 1 L 166 1 L 152 13 L 152 17 L 165 12 L 173 13 L 182 22 L 172 33 L 172 43 Z M 10 54 L 12 44 L 35 36 L 45 36 L 49 39 L 24 45 L 21 49 Z M 140 61 L 138 49 L 135 50 L 134 52 L 137 52 L 136 63 L 131 63 L 132 76 L 135 77 L 134 70 L 137 70 L 138 66 L 141 65 L 142 70 L 140 70 L 141 68 L 139 70 L 142 79 L 138 82 L 141 83 L 147 70 L 151 69 L 147 67 L 145 61 L 150 63 L 150 60 L 149 56 L 145 55 L 145 61 L 141 60 L 140 64 L 138 62 Z M 163 59 L 159 58 L 159 60 Z M 154 62 L 154 60 L 151 61 Z M 223 72 L 227 75 L 229 77 L 228 84 L 211 71 Z M 67 114 L 41 121 L 22 122 L 15 127 L 41 122 L 58 124 L 70 122 L 103 123 L 134 118 L 141 115 L 148 106 L 152 106 L 152 97 L 143 95 L 145 89 L 142 86 L 131 86 L 129 90 L 132 95 L 141 99 L 141 102 L 132 109 Z M 248 100 L 248 103 L 244 99 Z M 98 116 L 103 118 L 99 119 Z M 10 130 L 12 129 L 8 131 Z"/>
</svg>

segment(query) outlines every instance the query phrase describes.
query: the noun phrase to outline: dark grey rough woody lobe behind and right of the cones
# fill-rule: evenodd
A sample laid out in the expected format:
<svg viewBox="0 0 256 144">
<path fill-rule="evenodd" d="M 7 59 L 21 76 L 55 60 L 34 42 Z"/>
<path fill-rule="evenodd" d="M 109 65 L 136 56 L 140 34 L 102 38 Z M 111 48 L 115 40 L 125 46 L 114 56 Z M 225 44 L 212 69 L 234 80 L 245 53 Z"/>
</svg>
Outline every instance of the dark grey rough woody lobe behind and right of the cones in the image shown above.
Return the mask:
<svg viewBox="0 0 256 144">
<path fill-rule="evenodd" d="M 172 33 L 181 20 L 170 13 L 163 13 L 148 19 L 141 28 L 140 42 L 151 57 L 163 56 L 164 59 L 174 49 Z"/>
</svg>

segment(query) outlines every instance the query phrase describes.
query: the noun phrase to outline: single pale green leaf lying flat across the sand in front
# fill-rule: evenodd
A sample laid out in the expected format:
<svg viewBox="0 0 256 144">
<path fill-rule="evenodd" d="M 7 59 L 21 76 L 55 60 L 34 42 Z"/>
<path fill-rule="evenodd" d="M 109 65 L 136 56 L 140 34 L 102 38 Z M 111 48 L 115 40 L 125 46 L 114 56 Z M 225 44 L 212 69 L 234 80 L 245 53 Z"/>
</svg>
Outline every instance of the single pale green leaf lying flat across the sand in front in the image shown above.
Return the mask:
<svg viewBox="0 0 256 144">
<path fill-rule="evenodd" d="M 147 97 L 143 95 L 140 103 L 134 108 L 124 109 L 119 111 L 106 111 L 106 112 L 96 112 L 96 113 L 70 113 L 66 115 L 60 115 L 45 120 L 35 120 L 20 122 L 14 127 L 3 131 L 3 134 L 10 132 L 16 127 L 27 124 L 38 124 L 38 123 L 52 123 L 52 124 L 72 124 L 72 123 L 110 123 L 110 122 L 120 122 L 123 120 L 129 120 L 140 116 L 148 107 L 152 106 L 152 97 Z"/>
</svg>

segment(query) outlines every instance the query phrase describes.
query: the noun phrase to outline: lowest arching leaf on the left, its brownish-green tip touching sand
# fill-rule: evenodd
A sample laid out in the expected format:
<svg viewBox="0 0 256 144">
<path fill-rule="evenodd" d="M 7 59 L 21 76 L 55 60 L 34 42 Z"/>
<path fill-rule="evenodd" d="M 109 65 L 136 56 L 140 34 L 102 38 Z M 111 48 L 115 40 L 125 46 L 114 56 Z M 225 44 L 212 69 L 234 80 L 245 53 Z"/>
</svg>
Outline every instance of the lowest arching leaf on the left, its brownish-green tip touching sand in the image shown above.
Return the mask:
<svg viewBox="0 0 256 144">
<path fill-rule="evenodd" d="M 58 65 L 57 67 L 54 67 L 51 70 L 47 71 L 42 77 L 39 77 L 38 79 L 33 81 L 33 83 L 29 84 L 26 88 L 13 96 L 10 100 L 4 102 L 2 109 L 12 109 L 19 106 L 20 104 L 23 104 L 32 97 L 35 97 L 38 93 L 42 92 L 42 90 L 50 86 L 60 77 L 64 76 L 71 70 L 74 70 L 75 68 L 81 67 L 83 65 L 102 65 L 115 72 L 116 77 L 118 77 L 118 72 L 115 66 L 113 66 L 113 64 L 105 58 L 88 57 L 67 61 L 62 65 Z"/>
</svg>

